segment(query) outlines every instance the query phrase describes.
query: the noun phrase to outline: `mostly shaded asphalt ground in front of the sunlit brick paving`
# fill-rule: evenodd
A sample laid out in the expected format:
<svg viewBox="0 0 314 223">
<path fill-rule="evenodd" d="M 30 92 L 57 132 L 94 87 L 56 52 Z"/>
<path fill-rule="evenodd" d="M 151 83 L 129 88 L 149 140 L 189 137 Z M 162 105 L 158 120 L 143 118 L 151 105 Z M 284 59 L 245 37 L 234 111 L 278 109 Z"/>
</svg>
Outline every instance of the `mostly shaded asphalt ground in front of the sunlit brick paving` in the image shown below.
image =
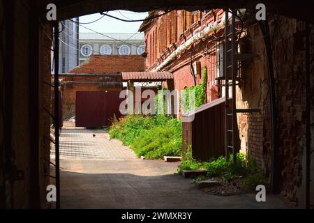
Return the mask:
<svg viewBox="0 0 314 223">
<path fill-rule="evenodd" d="M 107 161 L 103 167 L 110 167 L 111 173 L 95 173 L 95 163 L 86 168 L 87 163 L 82 162 L 76 163 L 75 171 L 61 171 L 61 208 L 290 208 L 281 197 L 271 194 L 267 202 L 257 202 L 255 194 L 207 194 L 197 190 L 190 179 L 165 174 L 156 167 L 160 163 L 161 168 L 169 169 L 162 167 L 163 162 Z M 133 174 L 114 173 L 126 171 L 121 164 Z"/>
</svg>

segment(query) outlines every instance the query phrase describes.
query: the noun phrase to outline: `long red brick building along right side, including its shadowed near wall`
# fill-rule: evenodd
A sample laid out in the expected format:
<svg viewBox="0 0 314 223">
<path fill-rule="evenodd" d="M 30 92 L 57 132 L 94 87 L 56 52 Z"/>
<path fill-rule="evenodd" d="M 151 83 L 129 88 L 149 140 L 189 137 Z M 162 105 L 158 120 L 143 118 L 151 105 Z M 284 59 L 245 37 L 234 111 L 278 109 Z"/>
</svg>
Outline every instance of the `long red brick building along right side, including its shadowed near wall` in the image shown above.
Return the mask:
<svg viewBox="0 0 314 223">
<path fill-rule="evenodd" d="M 140 27 L 140 31 L 145 33 L 146 69 L 172 72 L 174 89 L 180 92 L 194 85 L 191 64 L 200 64 L 200 68 L 206 66 L 207 102 L 223 97 L 218 56 L 224 44 L 224 11 L 172 10 L 158 17 L 162 13 L 151 12 L 150 16 L 156 18 L 143 22 Z M 305 23 L 280 15 L 269 15 L 277 107 L 274 118 L 278 123 L 275 127 L 278 154 L 274 157 L 274 168 L 267 51 L 255 14 L 248 10 L 243 13 L 241 20 L 244 23 L 237 22 L 236 29 L 239 39 L 237 53 L 254 54 L 255 57 L 238 64 L 236 105 L 237 109 L 253 108 L 260 109 L 260 112 L 237 114 L 238 148 L 255 157 L 268 176 L 276 171 L 278 191 L 291 201 L 301 204 L 304 202 L 306 183 L 301 177 L 306 170 L 303 158 L 306 145 Z M 311 33 L 313 51 L 313 29 Z M 202 75 L 195 75 L 195 81 L 200 84 Z M 310 82 L 313 86 L 313 77 Z"/>
</svg>

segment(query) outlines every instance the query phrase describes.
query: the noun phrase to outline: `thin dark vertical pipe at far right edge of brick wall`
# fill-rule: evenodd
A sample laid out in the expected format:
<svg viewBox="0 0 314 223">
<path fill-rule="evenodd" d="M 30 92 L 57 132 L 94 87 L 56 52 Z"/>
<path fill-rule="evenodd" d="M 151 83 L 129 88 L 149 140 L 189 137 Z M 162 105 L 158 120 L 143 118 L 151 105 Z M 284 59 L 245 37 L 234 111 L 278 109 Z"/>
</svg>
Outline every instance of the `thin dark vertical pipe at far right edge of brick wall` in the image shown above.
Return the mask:
<svg viewBox="0 0 314 223">
<path fill-rule="evenodd" d="M 306 22 L 306 208 L 311 196 L 311 77 L 310 77 L 310 26 Z"/>
</svg>

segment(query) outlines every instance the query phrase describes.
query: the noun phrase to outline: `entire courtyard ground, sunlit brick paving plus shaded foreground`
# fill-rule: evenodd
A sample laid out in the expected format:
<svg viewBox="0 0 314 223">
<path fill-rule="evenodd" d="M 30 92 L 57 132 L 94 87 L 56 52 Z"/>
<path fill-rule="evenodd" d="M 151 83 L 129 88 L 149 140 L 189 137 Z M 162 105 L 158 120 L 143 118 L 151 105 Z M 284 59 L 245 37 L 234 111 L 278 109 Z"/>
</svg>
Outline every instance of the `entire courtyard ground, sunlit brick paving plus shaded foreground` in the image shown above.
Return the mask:
<svg viewBox="0 0 314 223">
<path fill-rule="evenodd" d="M 61 208 L 291 207 L 270 194 L 267 202 L 257 202 L 255 194 L 222 197 L 197 190 L 174 174 L 179 163 L 140 160 L 104 130 L 66 127 L 60 140 Z"/>
</svg>

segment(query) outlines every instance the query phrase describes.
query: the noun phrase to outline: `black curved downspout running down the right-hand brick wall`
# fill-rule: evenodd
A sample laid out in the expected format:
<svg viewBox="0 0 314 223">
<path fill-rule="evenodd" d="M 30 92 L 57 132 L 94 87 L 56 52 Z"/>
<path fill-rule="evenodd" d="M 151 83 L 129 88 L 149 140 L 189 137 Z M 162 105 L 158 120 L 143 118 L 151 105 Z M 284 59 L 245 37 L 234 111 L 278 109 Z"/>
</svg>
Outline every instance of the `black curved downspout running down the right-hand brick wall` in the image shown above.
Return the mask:
<svg viewBox="0 0 314 223">
<path fill-rule="evenodd" d="M 276 92 L 275 92 L 275 78 L 273 68 L 273 55 L 271 51 L 271 40 L 269 34 L 268 20 L 260 21 L 260 29 L 267 52 L 267 70 L 268 70 L 268 86 L 269 86 L 269 104 L 270 104 L 270 118 L 271 118 L 271 193 L 278 192 L 278 164 L 277 164 L 277 148 L 276 148 Z"/>
</svg>

